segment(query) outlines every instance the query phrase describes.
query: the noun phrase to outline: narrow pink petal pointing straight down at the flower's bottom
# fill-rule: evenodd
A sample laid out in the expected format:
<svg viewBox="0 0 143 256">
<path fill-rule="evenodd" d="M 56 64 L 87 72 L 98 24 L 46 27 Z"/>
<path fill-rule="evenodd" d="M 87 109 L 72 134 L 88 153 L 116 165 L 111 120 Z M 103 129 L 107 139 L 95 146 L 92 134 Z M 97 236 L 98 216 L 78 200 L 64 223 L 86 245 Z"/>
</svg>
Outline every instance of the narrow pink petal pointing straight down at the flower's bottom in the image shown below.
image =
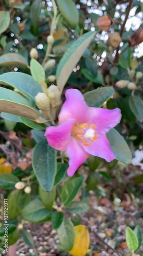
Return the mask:
<svg viewBox="0 0 143 256">
<path fill-rule="evenodd" d="M 67 174 L 72 177 L 78 167 L 89 157 L 89 154 L 83 150 L 73 137 L 71 137 L 70 143 L 68 144 L 67 154 L 69 156 Z"/>
</svg>

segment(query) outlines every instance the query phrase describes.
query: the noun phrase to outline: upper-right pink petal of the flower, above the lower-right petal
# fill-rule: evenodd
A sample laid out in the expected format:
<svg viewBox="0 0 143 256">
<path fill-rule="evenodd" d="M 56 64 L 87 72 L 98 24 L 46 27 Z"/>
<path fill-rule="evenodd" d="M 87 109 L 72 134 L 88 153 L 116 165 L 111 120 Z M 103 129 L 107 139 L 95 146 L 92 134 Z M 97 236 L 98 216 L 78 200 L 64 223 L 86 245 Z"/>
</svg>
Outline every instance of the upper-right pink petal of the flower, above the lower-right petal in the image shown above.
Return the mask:
<svg viewBox="0 0 143 256">
<path fill-rule="evenodd" d="M 121 111 L 118 108 L 114 110 L 90 108 L 89 123 L 96 126 L 98 137 L 109 132 L 109 130 L 115 127 L 120 120 Z"/>
</svg>

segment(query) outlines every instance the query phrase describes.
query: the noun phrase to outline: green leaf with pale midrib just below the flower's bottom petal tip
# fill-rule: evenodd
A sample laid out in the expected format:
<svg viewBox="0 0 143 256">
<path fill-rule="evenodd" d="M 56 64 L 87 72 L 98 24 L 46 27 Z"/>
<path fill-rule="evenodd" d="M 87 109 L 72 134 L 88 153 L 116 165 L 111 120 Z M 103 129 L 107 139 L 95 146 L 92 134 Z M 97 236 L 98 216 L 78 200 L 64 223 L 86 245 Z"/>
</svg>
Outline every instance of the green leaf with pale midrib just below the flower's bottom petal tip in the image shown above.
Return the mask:
<svg viewBox="0 0 143 256">
<path fill-rule="evenodd" d="M 76 197 L 83 182 L 83 177 L 78 177 L 68 181 L 62 188 L 61 200 L 66 206 Z"/>
</svg>

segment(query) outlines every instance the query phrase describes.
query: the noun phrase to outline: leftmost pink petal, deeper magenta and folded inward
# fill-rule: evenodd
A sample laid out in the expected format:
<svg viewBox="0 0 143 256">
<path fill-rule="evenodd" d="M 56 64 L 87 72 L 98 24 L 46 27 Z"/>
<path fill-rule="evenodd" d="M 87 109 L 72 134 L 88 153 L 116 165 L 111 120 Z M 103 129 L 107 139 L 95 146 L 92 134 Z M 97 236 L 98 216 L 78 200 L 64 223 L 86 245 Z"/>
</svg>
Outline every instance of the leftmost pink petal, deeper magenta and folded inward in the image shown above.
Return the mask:
<svg viewBox="0 0 143 256">
<path fill-rule="evenodd" d="M 75 120 L 69 119 L 61 125 L 47 127 L 45 136 L 50 146 L 56 150 L 66 151 L 74 123 Z"/>
</svg>

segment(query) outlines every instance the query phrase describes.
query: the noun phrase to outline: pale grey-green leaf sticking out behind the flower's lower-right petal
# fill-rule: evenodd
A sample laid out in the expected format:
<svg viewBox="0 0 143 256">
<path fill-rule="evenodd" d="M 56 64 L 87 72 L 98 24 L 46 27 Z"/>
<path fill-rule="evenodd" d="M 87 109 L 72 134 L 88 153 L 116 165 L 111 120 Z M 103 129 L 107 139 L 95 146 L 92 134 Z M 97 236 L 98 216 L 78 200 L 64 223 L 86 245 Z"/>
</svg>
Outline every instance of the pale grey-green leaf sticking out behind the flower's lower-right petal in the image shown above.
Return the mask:
<svg viewBox="0 0 143 256">
<path fill-rule="evenodd" d="M 115 130 L 111 129 L 107 133 L 111 151 L 116 155 L 116 159 L 130 164 L 132 161 L 131 151 L 124 138 Z"/>
</svg>

